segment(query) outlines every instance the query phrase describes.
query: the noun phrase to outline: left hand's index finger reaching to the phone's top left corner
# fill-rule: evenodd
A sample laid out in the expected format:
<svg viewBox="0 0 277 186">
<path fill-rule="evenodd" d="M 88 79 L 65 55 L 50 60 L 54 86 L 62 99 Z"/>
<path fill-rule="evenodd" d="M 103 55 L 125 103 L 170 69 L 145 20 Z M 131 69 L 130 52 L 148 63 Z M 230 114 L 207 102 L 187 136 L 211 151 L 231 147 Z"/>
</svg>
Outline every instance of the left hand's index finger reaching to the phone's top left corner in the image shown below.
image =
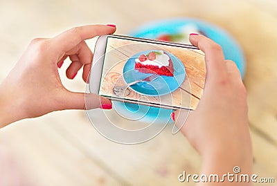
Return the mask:
<svg viewBox="0 0 277 186">
<path fill-rule="evenodd" d="M 105 25 L 87 25 L 71 28 L 62 32 L 62 34 L 53 37 L 52 44 L 56 51 L 65 53 L 71 50 L 81 41 L 85 39 L 91 39 L 100 35 L 112 34 L 116 31 L 116 27 L 105 26 Z"/>
</svg>

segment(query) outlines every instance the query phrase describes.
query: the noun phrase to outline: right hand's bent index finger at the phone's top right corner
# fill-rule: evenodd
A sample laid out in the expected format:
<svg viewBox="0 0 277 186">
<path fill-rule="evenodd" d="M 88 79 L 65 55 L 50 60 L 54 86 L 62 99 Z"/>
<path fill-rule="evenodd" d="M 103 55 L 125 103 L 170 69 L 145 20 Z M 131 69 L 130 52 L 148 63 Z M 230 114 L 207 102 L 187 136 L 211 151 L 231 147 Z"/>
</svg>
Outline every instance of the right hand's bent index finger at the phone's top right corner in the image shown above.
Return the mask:
<svg viewBox="0 0 277 186">
<path fill-rule="evenodd" d="M 190 35 L 190 43 L 205 53 L 207 80 L 211 77 L 216 79 L 226 77 L 224 54 L 219 44 L 203 35 Z"/>
</svg>

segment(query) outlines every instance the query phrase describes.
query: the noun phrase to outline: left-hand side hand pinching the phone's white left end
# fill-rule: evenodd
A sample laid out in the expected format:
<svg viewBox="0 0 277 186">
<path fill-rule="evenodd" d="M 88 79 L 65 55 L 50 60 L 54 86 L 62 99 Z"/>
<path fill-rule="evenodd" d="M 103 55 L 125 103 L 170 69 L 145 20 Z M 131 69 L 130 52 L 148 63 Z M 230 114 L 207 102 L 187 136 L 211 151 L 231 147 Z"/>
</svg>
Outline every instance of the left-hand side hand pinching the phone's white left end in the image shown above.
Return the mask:
<svg viewBox="0 0 277 186">
<path fill-rule="evenodd" d="M 84 40 L 115 31 L 114 25 L 88 25 L 71 28 L 51 39 L 33 39 L 0 85 L 0 128 L 52 111 L 85 109 L 84 93 L 67 90 L 57 68 L 69 57 L 71 64 L 66 76 L 73 79 L 83 67 L 82 78 L 87 82 L 93 53 Z M 94 94 L 88 97 L 89 109 L 111 109 L 111 102 L 105 97 Z"/>
</svg>

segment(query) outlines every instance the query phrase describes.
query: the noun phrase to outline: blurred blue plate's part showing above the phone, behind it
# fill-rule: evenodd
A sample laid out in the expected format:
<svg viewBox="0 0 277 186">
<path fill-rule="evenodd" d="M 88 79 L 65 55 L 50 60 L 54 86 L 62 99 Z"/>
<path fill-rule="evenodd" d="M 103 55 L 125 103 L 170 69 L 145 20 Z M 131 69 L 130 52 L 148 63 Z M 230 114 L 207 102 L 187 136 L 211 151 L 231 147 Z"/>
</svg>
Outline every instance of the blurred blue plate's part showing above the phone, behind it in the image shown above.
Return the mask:
<svg viewBox="0 0 277 186">
<path fill-rule="evenodd" d="M 130 35 L 133 37 L 156 39 L 164 34 L 178 34 L 184 26 L 188 25 L 195 26 L 198 30 L 204 32 L 207 37 L 213 39 L 217 44 L 220 44 L 225 59 L 233 60 L 240 70 L 240 75 L 242 75 L 242 77 L 244 76 L 245 60 L 240 45 L 235 39 L 233 39 L 233 37 L 231 37 L 231 35 L 229 35 L 228 32 L 206 21 L 193 18 L 165 19 L 144 24 L 143 26 L 136 28 L 136 30 L 131 32 Z"/>
</svg>

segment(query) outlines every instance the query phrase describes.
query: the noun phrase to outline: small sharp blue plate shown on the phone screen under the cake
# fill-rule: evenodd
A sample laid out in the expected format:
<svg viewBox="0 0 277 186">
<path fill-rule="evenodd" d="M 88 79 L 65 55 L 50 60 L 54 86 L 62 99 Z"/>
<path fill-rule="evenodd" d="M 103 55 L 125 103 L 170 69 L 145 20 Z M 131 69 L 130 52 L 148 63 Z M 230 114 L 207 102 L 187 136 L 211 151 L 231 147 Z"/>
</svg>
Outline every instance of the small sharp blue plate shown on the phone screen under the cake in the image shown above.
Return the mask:
<svg viewBox="0 0 277 186">
<path fill-rule="evenodd" d="M 139 58 L 140 55 L 150 53 L 151 51 L 159 50 L 145 50 L 140 53 L 136 53 L 136 55 L 133 55 L 127 60 L 123 67 L 123 79 L 127 84 L 135 82 L 136 80 L 143 80 L 145 77 L 152 75 L 150 73 L 141 73 L 134 69 L 135 59 Z M 166 95 L 178 89 L 186 77 L 185 67 L 175 55 L 168 52 L 166 52 L 166 54 L 168 54 L 172 60 L 173 67 L 175 69 L 173 77 L 161 75 L 152 82 L 139 82 L 129 88 L 137 93 L 148 96 Z"/>
</svg>

